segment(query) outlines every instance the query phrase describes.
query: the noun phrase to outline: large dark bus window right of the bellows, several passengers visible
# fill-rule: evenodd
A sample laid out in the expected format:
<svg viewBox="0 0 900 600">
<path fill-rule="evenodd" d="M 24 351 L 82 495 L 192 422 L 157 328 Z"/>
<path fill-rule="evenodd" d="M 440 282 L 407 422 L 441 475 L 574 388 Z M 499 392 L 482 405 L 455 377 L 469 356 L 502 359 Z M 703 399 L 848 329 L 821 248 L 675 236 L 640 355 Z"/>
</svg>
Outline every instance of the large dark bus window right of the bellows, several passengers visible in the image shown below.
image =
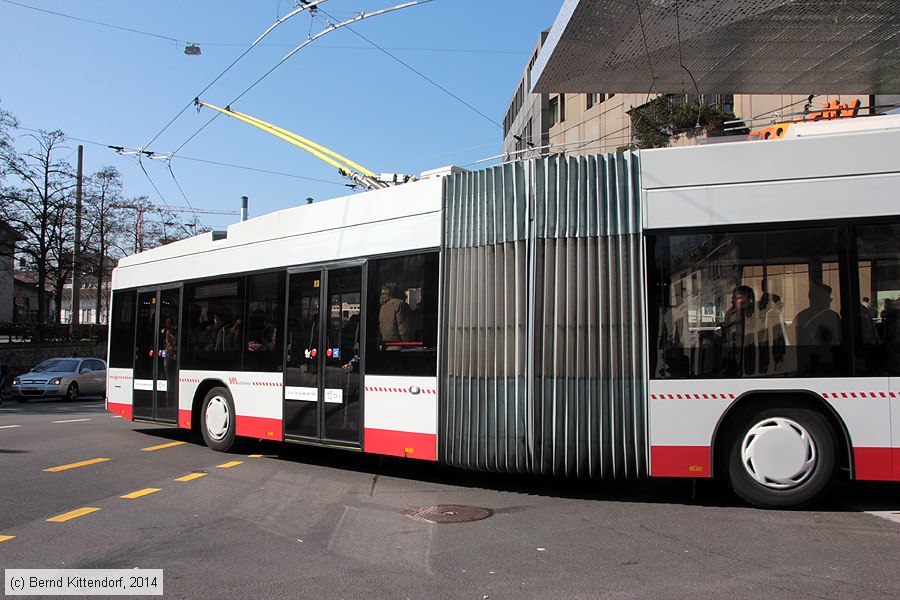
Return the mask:
<svg viewBox="0 0 900 600">
<path fill-rule="evenodd" d="M 657 236 L 654 377 L 849 374 L 837 235 Z"/>
</svg>

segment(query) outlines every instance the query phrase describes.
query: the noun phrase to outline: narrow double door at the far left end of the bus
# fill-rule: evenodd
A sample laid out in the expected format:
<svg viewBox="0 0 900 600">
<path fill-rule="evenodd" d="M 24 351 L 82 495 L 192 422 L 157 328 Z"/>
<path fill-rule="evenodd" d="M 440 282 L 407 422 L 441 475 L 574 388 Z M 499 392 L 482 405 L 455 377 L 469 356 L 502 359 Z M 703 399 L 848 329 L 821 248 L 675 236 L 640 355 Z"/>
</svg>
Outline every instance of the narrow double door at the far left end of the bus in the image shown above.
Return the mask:
<svg viewBox="0 0 900 600">
<path fill-rule="evenodd" d="M 180 288 L 138 292 L 133 418 L 178 419 L 178 316 Z"/>
</svg>

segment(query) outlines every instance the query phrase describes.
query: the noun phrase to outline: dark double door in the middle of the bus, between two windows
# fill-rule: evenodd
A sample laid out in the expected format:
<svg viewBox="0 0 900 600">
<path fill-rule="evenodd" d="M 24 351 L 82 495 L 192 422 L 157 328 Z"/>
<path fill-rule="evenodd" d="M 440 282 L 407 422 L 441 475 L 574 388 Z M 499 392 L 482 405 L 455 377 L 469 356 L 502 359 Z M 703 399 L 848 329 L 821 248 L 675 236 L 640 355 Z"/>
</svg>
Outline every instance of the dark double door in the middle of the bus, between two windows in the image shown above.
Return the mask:
<svg viewBox="0 0 900 600">
<path fill-rule="evenodd" d="M 363 266 L 291 273 L 284 436 L 360 446 Z"/>
</svg>

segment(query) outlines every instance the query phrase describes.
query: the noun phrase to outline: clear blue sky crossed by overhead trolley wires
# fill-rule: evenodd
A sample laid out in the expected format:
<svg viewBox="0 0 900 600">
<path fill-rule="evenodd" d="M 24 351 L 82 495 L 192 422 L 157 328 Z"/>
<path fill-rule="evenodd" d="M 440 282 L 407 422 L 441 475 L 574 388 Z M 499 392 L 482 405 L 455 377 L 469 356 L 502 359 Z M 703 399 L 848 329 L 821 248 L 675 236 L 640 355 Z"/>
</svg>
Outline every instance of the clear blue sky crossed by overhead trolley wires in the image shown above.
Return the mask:
<svg viewBox="0 0 900 600">
<path fill-rule="evenodd" d="M 251 218 L 354 192 L 334 167 L 259 129 L 225 116 L 207 125 L 208 108 L 181 112 L 220 75 L 201 100 L 376 173 L 489 166 L 538 35 L 563 0 L 432 0 L 335 29 L 253 86 L 329 22 L 400 3 L 326 0 L 316 18 L 284 21 L 228 69 L 295 3 L 0 0 L 0 108 L 24 128 L 65 132 L 73 165 L 82 144 L 86 174 L 118 169 L 126 198 L 237 211 L 248 196 Z M 201 54 L 186 55 L 187 43 Z M 108 146 L 177 152 L 139 163 Z M 198 216 L 215 229 L 238 220 Z"/>
</svg>

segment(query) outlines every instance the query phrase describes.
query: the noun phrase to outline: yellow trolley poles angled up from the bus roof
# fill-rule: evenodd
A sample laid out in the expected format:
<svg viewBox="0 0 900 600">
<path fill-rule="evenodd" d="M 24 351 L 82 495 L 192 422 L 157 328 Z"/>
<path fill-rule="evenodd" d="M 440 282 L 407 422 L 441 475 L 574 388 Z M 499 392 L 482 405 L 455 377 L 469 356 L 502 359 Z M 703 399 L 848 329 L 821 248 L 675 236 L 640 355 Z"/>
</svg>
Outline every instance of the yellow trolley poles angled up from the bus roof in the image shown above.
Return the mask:
<svg viewBox="0 0 900 600">
<path fill-rule="evenodd" d="M 250 115 L 239 113 L 236 110 L 232 110 L 230 106 L 219 108 L 218 106 L 213 106 L 212 104 L 201 101 L 200 98 L 195 98 L 194 104 L 197 105 L 198 109 L 201 106 L 205 106 L 207 108 L 211 108 L 212 110 L 218 111 L 223 115 L 228 115 L 229 117 L 233 117 L 239 121 L 243 121 L 244 123 L 252 125 L 257 129 L 261 129 L 270 135 L 274 135 L 275 137 L 282 139 L 287 143 L 300 148 L 301 150 L 309 152 L 316 158 L 328 163 L 329 165 L 337 167 L 338 173 L 352 181 L 354 185 L 358 185 L 367 190 L 383 189 L 392 185 L 406 183 L 415 179 L 410 175 L 402 175 L 397 173 L 382 173 L 381 175 L 377 175 L 373 171 L 365 168 L 358 163 L 353 162 L 345 156 L 338 154 L 334 150 L 329 150 L 321 144 L 317 144 L 310 139 L 297 135 L 296 133 L 290 132 L 286 129 L 282 129 L 277 125 L 267 123 L 262 119 L 257 119 L 256 117 L 251 117 Z"/>
</svg>

